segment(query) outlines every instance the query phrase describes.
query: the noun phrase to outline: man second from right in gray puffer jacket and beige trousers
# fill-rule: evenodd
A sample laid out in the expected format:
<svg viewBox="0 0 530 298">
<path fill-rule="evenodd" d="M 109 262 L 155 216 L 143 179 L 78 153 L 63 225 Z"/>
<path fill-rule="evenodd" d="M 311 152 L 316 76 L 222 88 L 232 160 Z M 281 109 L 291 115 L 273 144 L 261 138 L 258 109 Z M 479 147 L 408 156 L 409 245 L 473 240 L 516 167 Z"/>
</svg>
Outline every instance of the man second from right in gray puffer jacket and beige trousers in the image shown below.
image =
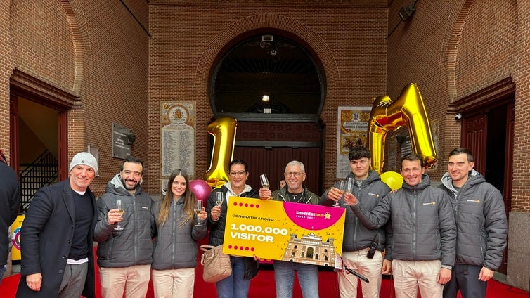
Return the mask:
<svg viewBox="0 0 530 298">
<path fill-rule="evenodd" d="M 370 212 L 354 195 L 344 202 L 367 228 L 392 222 L 392 272 L 396 298 L 441 297 L 455 262 L 456 228 L 453 209 L 443 190 L 430 186 L 422 157 L 401 158 L 403 187 L 389 193 Z"/>
</svg>

